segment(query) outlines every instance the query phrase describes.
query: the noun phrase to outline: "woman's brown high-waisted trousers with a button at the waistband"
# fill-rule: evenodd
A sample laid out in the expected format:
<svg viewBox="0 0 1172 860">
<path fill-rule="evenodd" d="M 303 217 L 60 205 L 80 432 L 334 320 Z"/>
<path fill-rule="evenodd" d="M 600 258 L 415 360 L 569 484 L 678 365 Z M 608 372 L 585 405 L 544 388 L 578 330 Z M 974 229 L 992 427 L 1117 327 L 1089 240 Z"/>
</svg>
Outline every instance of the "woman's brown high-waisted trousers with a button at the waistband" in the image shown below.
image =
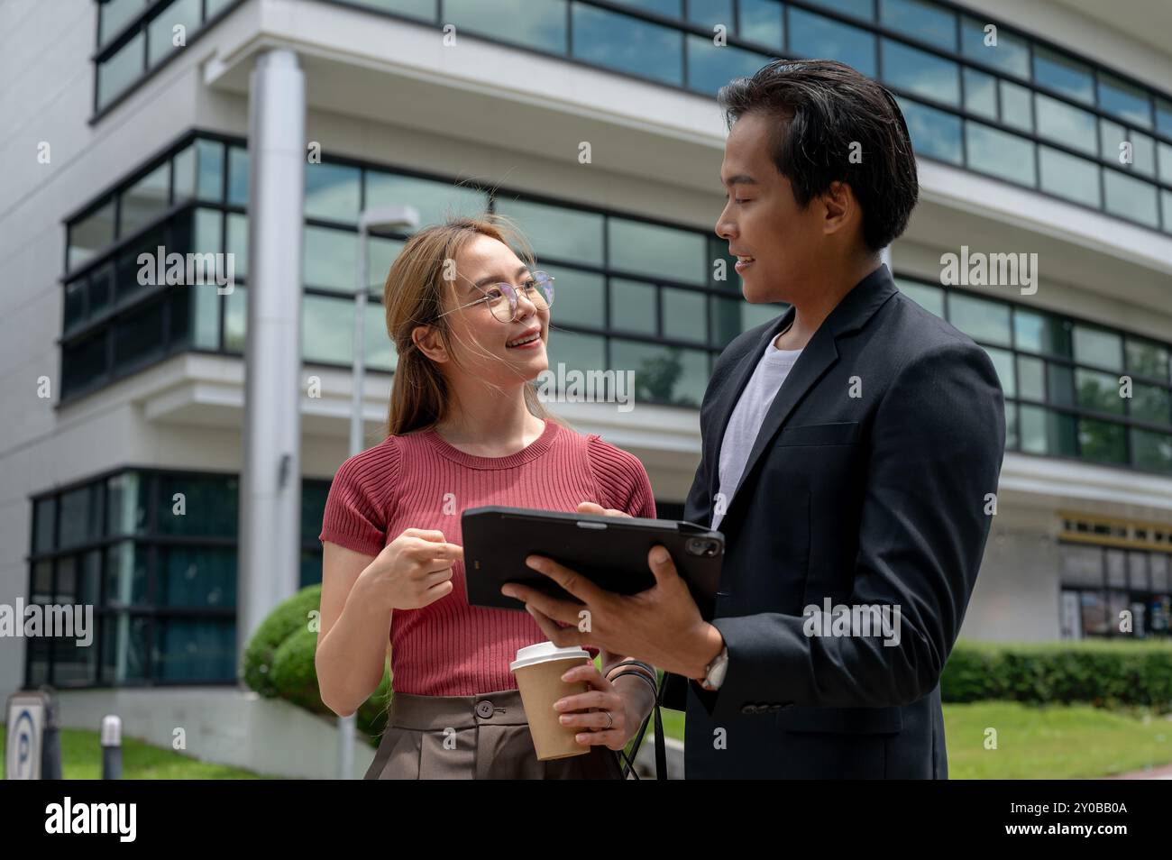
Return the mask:
<svg viewBox="0 0 1172 860">
<path fill-rule="evenodd" d="M 621 779 L 619 756 L 540 762 L 520 692 L 411 696 L 393 692 L 387 730 L 366 779 Z"/>
</svg>

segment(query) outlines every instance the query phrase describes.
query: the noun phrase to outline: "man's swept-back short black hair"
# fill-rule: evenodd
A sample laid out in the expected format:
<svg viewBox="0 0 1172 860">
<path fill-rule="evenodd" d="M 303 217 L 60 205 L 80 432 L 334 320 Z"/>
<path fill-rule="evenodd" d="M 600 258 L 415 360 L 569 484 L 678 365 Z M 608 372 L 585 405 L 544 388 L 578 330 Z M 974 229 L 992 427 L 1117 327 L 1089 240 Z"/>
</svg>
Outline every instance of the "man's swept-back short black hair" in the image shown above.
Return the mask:
<svg viewBox="0 0 1172 860">
<path fill-rule="evenodd" d="M 718 101 L 729 128 L 747 114 L 776 117 L 770 156 L 799 206 L 845 182 L 872 251 L 907 227 L 920 184 L 907 123 L 884 87 L 833 60 L 775 60 L 722 87 Z"/>
</svg>

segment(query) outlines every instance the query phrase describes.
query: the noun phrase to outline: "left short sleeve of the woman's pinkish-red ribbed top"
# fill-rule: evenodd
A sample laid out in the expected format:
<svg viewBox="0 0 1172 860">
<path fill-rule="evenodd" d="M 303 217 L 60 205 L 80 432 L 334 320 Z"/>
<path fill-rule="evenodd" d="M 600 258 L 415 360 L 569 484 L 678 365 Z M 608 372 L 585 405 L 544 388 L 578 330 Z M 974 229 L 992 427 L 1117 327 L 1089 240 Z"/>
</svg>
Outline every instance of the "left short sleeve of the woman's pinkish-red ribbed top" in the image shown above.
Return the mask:
<svg viewBox="0 0 1172 860">
<path fill-rule="evenodd" d="M 329 485 L 319 540 L 364 555 L 382 552 L 393 505 L 388 489 L 396 486 L 397 471 L 394 437 L 342 463 Z"/>
</svg>

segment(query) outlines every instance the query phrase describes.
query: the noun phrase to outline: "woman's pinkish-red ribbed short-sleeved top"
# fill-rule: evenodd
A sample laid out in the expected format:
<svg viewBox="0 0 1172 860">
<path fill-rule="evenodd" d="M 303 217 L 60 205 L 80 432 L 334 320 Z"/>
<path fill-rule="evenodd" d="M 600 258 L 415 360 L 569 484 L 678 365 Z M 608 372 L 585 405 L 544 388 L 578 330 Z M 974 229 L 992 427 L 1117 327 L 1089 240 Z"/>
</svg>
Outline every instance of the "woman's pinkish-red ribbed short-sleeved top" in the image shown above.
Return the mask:
<svg viewBox="0 0 1172 860">
<path fill-rule="evenodd" d="M 413 527 L 438 530 L 462 545 L 465 509 L 573 512 L 580 501 L 633 517 L 655 516 L 639 458 L 593 434 L 546 421 L 541 435 L 517 453 L 477 457 L 424 430 L 391 436 L 342 463 L 319 537 L 367 555 L 377 555 Z M 469 606 L 462 561 L 452 566 L 452 586 L 451 594 L 430 606 L 391 614 L 393 688 L 420 696 L 516 689 L 509 663 L 519 648 L 545 641 L 541 628 L 529 613 Z"/>
</svg>

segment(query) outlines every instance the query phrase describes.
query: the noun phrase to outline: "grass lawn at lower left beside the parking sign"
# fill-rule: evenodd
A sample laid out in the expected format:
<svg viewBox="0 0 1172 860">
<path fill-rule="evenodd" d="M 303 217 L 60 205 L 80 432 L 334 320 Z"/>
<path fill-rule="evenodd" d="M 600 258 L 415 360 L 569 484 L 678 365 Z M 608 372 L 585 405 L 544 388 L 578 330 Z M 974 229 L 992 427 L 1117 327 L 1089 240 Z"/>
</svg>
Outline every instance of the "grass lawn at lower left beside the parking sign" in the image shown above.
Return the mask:
<svg viewBox="0 0 1172 860">
<path fill-rule="evenodd" d="M 0 732 L 0 758 L 6 738 Z M 88 729 L 61 730 L 61 776 L 64 779 L 101 779 L 102 748 L 98 733 Z M 2 776 L 2 772 L 0 772 Z M 122 738 L 123 779 L 268 779 L 252 771 L 198 762 L 162 746 Z"/>
</svg>

